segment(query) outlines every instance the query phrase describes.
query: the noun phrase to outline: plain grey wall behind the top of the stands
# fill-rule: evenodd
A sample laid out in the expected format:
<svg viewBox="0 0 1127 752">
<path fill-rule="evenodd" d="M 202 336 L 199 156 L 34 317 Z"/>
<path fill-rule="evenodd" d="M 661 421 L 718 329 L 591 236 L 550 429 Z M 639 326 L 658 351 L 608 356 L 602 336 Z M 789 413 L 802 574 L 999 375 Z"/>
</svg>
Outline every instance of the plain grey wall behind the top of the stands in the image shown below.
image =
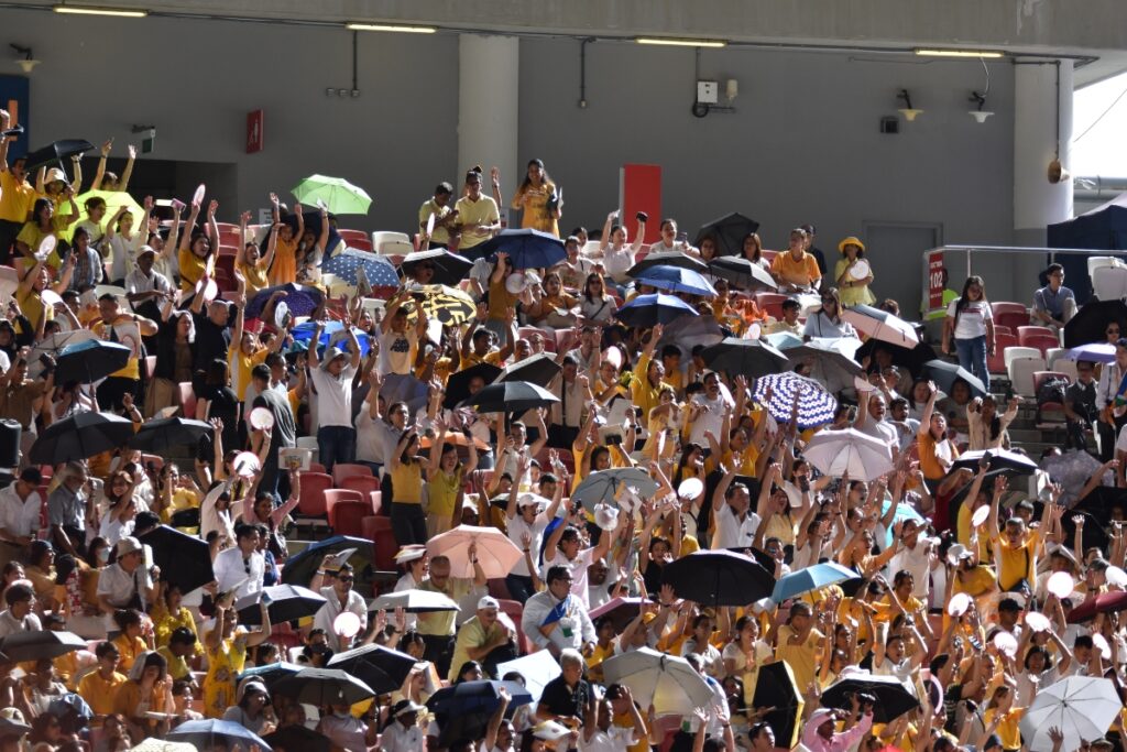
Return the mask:
<svg viewBox="0 0 1127 752">
<path fill-rule="evenodd" d="M 339 99 L 325 88 L 352 86 L 352 36 L 343 30 L 18 10 L 0 10 L 0 27 L 44 61 L 32 77 L 33 145 L 114 135 L 121 154 L 131 124 L 156 124 L 154 158 L 236 166 L 236 185 L 220 194 L 223 219 L 320 171 L 374 197 L 371 214 L 347 224 L 408 230 L 433 185 L 468 167 L 456 163 L 454 35 L 362 34 L 363 94 Z M 690 231 L 742 211 L 763 223 L 767 247 L 807 221 L 831 250 L 866 223 L 935 224 L 947 242 L 1011 240 L 1013 76 L 1005 62 L 991 63 L 997 114 L 978 125 L 966 113 L 966 97 L 984 82 L 977 61 L 706 51 L 702 78 L 736 78 L 740 94 L 735 114 L 695 118 L 692 50 L 589 45 L 586 109 L 576 105 L 578 52 L 571 39 L 521 42 L 514 151 L 517 163 L 544 159 L 565 186 L 565 229 L 600 225 L 616 204 L 619 167 L 635 161 L 664 167 L 666 211 Z M 896 114 L 902 87 L 926 112 L 902 120 L 898 135 L 882 135 L 879 118 Z M 255 108 L 265 110 L 266 150 L 246 154 L 246 113 Z M 505 176 L 506 200 L 516 178 Z M 876 269 L 878 287 L 887 285 L 878 292 L 908 300 L 908 287 L 919 289 L 919 250 L 905 250 L 909 275 Z M 913 285 L 902 282 L 908 276 Z"/>
</svg>

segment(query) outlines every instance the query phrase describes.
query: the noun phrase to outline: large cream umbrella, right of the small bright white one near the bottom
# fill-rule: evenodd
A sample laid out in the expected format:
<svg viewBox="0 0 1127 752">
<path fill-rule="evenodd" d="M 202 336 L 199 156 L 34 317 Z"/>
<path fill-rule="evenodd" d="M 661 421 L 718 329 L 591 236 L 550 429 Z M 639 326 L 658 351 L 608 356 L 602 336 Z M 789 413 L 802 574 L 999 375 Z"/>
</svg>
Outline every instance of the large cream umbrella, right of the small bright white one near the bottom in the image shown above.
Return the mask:
<svg viewBox="0 0 1127 752">
<path fill-rule="evenodd" d="M 648 647 L 607 658 L 603 676 L 607 684 L 629 687 L 641 707 L 653 705 L 657 715 L 691 716 L 715 700 L 712 688 L 687 661 Z"/>
</svg>

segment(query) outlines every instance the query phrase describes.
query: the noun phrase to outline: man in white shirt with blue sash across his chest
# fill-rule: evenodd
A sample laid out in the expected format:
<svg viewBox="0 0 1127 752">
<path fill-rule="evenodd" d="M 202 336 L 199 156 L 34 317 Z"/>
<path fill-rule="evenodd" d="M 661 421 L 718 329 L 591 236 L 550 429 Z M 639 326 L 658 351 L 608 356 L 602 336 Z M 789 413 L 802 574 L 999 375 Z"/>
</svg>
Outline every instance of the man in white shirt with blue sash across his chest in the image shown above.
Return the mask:
<svg viewBox="0 0 1127 752">
<path fill-rule="evenodd" d="M 587 607 L 571 594 L 571 569 L 556 565 L 548 569 L 548 589 L 524 604 L 521 629 L 538 648 L 559 655 L 564 648 L 595 648 L 595 625 Z"/>
</svg>

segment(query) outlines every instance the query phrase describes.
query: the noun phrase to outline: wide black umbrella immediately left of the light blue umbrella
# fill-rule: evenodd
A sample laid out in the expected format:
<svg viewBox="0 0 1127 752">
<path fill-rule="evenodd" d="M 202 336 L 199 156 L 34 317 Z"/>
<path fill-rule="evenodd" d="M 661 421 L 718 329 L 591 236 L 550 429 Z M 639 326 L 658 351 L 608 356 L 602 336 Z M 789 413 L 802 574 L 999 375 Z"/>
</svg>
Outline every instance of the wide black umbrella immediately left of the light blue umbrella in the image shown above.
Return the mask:
<svg viewBox="0 0 1127 752">
<path fill-rule="evenodd" d="M 701 605 L 747 605 L 769 598 L 775 580 L 749 556 L 702 550 L 667 564 L 662 584 Z"/>
</svg>

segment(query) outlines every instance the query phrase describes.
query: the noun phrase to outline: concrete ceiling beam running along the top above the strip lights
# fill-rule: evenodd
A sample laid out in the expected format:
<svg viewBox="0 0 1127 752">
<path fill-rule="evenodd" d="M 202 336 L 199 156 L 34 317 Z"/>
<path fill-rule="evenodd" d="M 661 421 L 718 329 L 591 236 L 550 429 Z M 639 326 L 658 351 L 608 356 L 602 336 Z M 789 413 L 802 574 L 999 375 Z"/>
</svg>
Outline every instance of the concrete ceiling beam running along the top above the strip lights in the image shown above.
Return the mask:
<svg viewBox="0 0 1127 752">
<path fill-rule="evenodd" d="M 1081 60 L 1083 86 L 1127 70 L 1122 0 L 66 0 L 232 20 L 429 24 L 449 30 L 682 36 L 781 46 L 1005 50 Z M 5 2 L 44 8 L 54 0 Z M 1095 60 L 1092 60 L 1095 59 Z"/>
</svg>

